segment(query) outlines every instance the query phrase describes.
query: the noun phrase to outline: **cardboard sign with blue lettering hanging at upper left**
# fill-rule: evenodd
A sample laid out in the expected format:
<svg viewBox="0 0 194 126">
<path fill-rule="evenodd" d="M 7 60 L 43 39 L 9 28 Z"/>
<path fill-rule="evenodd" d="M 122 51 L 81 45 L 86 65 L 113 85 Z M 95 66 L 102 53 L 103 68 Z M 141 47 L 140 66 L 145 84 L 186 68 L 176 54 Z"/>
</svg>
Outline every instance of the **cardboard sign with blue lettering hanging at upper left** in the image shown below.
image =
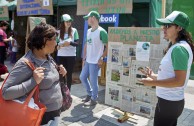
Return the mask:
<svg viewBox="0 0 194 126">
<path fill-rule="evenodd" d="M 52 0 L 18 0 L 17 16 L 53 15 Z"/>
</svg>

